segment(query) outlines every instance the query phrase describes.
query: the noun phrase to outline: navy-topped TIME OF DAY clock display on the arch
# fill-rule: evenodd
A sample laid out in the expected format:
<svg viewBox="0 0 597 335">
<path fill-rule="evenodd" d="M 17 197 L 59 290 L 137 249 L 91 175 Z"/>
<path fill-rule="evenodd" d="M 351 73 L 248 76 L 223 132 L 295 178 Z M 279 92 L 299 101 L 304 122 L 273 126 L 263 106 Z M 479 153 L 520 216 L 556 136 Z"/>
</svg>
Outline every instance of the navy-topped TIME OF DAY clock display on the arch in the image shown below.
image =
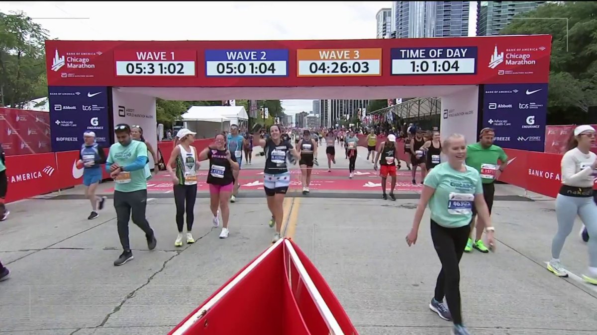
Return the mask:
<svg viewBox="0 0 597 335">
<path fill-rule="evenodd" d="M 392 75 L 475 75 L 476 46 L 392 48 Z"/>
</svg>

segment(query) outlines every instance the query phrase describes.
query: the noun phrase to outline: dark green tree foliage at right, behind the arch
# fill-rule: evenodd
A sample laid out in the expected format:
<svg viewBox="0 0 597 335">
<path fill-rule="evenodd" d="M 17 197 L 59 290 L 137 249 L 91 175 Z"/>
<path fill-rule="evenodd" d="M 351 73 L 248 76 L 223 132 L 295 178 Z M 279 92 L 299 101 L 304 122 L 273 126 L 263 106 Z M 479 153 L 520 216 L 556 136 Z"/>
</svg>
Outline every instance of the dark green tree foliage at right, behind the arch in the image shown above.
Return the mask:
<svg viewBox="0 0 597 335">
<path fill-rule="evenodd" d="M 548 122 L 583 122 L 597 105 L 597 2 L 547 3 L 516 18 L 502 35 L 552 35 Z"/>
</svg>

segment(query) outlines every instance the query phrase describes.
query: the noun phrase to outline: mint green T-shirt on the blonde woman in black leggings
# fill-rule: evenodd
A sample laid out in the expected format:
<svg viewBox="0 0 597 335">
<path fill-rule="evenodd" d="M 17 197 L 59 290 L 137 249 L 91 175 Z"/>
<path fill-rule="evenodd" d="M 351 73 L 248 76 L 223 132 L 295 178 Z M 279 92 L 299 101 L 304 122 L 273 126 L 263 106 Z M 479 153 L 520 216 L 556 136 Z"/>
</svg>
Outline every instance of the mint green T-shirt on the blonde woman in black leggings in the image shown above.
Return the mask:
<svg viewBox="0 0 597 335">
<path fill-rule="evenodd" d="M 433 221 L 447 228 L 464 227 L 470 223 L 475 194 L 483 194 L 477 170 L 466 166 L 466 172 L 459 172 L 447 162 L 441 163 L 429 172 L 423 184 L 435 188 L 429 199 Z"/>
</svg>

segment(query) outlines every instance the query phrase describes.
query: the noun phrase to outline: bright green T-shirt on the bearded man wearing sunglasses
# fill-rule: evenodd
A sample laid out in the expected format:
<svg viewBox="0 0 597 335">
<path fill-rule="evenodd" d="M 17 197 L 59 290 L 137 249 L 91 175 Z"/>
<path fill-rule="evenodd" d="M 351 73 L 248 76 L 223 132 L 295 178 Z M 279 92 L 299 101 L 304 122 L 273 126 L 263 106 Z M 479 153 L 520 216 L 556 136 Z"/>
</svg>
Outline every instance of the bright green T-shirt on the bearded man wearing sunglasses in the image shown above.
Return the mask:
<svg viewBox="0 0 597 335">
<path fill-rule="evenodd" d="M 508 156 L 501 147 L 491 145 L 484 148 L 476 142 L 466 146 L 466 165 L 475 168 L 481 174 L 483 184 L 491 184 L 500 168 L 500 162 L 507 162 Z"/>
</svg>

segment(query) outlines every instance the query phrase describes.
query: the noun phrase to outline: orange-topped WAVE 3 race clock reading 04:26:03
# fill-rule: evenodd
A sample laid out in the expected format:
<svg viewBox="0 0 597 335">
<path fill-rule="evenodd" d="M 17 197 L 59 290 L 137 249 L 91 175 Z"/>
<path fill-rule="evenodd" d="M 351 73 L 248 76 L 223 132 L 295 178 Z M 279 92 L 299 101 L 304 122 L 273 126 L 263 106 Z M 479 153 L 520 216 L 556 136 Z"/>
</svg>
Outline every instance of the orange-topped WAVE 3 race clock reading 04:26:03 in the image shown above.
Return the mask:
<svg viewBox="0 0 597 335">
<path fill-rule="evenodd" d="M 297 50 L 297 77 L 338 76 L 381 76 L 381 48 Z"/>
</svg>

